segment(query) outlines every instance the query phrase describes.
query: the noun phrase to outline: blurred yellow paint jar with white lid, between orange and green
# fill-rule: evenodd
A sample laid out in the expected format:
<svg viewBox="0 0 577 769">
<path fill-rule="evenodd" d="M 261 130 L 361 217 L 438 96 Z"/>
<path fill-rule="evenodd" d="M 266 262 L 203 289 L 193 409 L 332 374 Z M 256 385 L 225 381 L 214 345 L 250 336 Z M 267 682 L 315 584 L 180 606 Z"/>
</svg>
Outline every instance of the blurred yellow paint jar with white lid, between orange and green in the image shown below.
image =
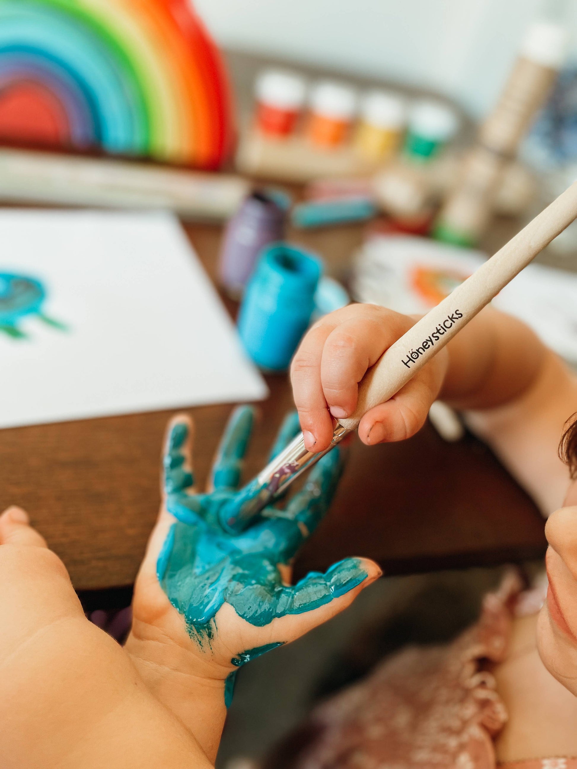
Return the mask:
<svg viewBox="0 0 577 769">
<path fill-rule="evenodd" d="M 388 91 L 369 91 L 362 96 L 355 148 L 369 161 L 382 161 L 401 144 L 406 124 L 405 100 Z"/>
</svg>

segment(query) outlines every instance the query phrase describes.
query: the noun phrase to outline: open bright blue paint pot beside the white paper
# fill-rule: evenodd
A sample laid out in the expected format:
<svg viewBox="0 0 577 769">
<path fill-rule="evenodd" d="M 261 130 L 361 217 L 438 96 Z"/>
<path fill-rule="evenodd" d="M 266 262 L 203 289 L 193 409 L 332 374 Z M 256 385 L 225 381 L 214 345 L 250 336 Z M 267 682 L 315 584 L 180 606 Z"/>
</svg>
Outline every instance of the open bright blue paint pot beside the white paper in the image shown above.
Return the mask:
<svg viewBox="0 0 577 769">
<path fill-rule="evenodd" d="M 321 260 L 274 243 L 262 252 L 238 313 L 245 349 L 265 371 L 285 371 L 311 320 Z"/>
</svg>

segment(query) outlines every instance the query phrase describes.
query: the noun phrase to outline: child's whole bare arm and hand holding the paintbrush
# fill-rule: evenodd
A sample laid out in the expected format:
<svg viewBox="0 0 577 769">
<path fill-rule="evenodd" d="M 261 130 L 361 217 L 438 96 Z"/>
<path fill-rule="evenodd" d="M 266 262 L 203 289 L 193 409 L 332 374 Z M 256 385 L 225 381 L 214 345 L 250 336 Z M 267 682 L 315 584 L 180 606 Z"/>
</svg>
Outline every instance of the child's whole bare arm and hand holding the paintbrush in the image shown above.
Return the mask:
<svg viewBox="0 0 577 769">
<path fill-rule="evenodd" d="M 291 371 L 307 448 L 329 445 L 333 418 L 355 411 L 366 369 L 414 324 L 414 318 L 375 305 L 349 305 L 309 331 Z M 561 503 L 567 472 L 556 447 L 577 408 L 577 385 L 531 329 L 485 308 L 389 401 L 366 412 L 359 438 L 369 445 L 411 438 L 437 398 L 469 412 L 469 425 L 542 511 L 549 514 Z"/>
</svg>

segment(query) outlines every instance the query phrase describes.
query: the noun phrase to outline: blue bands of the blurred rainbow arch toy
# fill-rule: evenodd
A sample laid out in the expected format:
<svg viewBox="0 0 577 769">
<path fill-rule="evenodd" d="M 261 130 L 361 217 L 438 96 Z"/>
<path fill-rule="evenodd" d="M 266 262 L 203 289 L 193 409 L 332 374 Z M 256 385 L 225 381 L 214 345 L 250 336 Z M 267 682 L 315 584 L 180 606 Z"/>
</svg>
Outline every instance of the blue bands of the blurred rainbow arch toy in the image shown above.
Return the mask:
<svg viewBox="0 0 577 769">
<path fill-rule="evenodd" d="M 26 0 L 0 2 L 0 78 L 6 80 L 18 65 L 24 75 L 28 64 L 31 79 L 35 75 L 48 87 L 56 85 L 57 95 L 66 94 L 62 105 L 77 135 L 89 132 L 105 150 L 122 155 L 148 151 L 142 90 L 113 48 L 58 9 Z"/>
</svg>

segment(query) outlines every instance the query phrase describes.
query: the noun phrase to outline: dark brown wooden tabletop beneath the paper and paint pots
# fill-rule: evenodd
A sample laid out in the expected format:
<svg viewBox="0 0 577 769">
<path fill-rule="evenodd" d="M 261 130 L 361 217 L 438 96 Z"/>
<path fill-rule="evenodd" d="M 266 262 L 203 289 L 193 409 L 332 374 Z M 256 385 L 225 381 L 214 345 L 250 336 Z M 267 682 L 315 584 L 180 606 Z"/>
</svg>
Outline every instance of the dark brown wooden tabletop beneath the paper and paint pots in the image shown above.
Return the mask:
<svg viewBox="0 0 577 769">
<path fill-rule="evenodd" d="M 215 277 L 219 228 L 191 225 L 188 235 Z M 293 234 L 345 276 L 360 242 L 358 227 Z M 228 302 L 228 308 L 235 307 Z M 268 377 L 271 397 L 246 463 L 265 463 L 283 414 L 292 406 L 285 376 Z M 199 481 L 222 434 L 230 405 L 190 409 L 202 451 Z M 20 504 L 62 557 L 87 607 L 129 600 L 159 503 L 159 455 L 172 412 L 48 424 L 0 431 L 0 505 Z M 389 574 L 495 564 L 539 557 L 543 521 L 491 452 L 472 437 L 447 444 L 430 425 L 410 441 L 368 449 L 357 440 L 328 518 L 305 546 L 297 576 L 348 555 L 375 558 Z"/>
</svg>

